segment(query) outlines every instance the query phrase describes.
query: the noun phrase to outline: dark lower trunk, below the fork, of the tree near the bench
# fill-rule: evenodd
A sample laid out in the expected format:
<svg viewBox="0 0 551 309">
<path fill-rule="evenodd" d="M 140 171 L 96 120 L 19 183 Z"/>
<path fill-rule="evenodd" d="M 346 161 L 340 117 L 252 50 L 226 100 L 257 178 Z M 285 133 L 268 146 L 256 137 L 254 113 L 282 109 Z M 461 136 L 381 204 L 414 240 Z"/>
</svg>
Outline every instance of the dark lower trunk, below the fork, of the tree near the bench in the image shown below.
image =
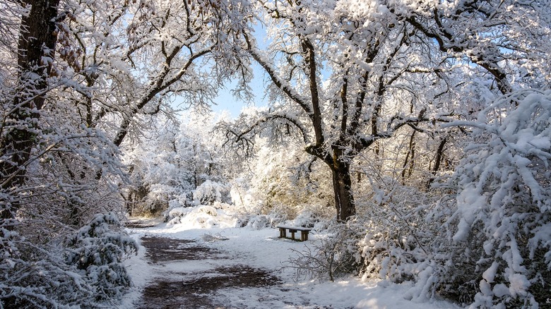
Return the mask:
<svg viewBox="0 0 551 309">
<path fill-rule="evenodd" d="M 350 164 L 342 162 L 333 164 L 331 166 L 331 174 L 333 174 L 333 193 L 335 194 L 337 221 L 345 222 L 356 214 L 354 195 L 352 195 Z"/>
</svg>

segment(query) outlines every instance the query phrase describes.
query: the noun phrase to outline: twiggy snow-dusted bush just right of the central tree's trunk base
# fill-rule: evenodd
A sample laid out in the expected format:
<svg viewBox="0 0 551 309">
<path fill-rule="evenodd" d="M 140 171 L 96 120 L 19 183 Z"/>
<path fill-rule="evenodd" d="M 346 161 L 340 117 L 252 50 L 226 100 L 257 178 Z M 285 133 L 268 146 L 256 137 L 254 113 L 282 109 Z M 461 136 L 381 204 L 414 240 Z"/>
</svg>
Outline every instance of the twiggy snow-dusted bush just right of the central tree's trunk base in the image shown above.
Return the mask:
<svg viewBox="0 0 551 309">
<path fill-rule="evenodd" d="M 414 279 L 417 265 L 427 258 L 434 239 L 425 220 L 430 196 L 390 178 L 373 185 L 377 194 L 360 202 L 362 217 L 357 219 L 363 227 L 357 244 L 362 278 Z"/>
</svg>

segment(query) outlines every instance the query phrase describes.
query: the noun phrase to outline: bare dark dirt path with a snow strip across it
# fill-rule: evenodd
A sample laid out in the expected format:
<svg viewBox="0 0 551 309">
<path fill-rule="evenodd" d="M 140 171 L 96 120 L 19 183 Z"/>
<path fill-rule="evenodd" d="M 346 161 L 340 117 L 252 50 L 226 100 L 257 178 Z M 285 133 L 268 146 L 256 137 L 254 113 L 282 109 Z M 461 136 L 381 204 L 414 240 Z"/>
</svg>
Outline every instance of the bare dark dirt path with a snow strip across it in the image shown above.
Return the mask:
<svg viewBox="0 0 551 309">
<path fill-rule="evenodd" d="M 157 308 L 226 308 L 216 301 L 220 289 L 238 289 L 279 284 L 277 277 L 266 269 L 245 264 L 240 257 L 232 257 L 194 240 L 160 236 L 143 236 L 146 258 L 155 269 L 156 277 L 146 289 L 141 309 Z M 223 240 L 220 240 L 223 241 Z M 202 265 L 199 271 L 185 265 Z M 209 267 L 205 267 L 205 265 Z"/>
</svg>

